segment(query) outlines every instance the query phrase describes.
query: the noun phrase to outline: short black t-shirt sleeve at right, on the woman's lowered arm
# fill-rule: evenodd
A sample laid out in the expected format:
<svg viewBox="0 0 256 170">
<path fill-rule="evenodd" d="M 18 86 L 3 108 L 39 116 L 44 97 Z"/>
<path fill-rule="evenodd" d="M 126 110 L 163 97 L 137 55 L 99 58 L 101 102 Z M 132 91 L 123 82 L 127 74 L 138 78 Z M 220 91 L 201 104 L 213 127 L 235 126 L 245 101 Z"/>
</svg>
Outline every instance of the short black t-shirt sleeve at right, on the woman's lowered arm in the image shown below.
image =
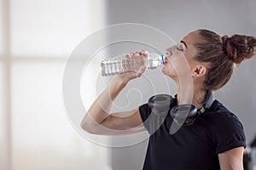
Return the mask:
<svg viewBox="0 0 256 170">
<path fill-rule="evenodd" d="M 217 124 L 215 132 L 216 153 L 222 153 L 236 147 L 246 147 L 246 137 L 241 122 L 233 113 L 227 113 Z"/>
</svg>

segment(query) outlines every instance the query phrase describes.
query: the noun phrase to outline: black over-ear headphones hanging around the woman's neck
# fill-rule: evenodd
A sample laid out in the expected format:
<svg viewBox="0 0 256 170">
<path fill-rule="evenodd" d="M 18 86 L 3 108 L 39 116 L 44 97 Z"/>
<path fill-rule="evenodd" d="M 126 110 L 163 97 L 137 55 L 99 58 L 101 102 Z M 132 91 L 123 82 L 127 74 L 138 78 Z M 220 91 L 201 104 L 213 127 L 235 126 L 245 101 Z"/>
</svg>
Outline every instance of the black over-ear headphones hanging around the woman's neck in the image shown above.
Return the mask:
<svg viewBox="0 0 256 170">
<path fill-rule="evenodd" d="M 177 95 L 157 94 L 148 99 L 148 105 L 154 114 L 170 113 L 174 122 L 183 126 L 192 125 L 198 116 L 209 109 L 214 101 L 212 91 L 207 91 L 207 99 L 200 110 L 195 105 L 177 105 Z M 166 109 L 167 108 L 167 109 Z"/>
</svg>

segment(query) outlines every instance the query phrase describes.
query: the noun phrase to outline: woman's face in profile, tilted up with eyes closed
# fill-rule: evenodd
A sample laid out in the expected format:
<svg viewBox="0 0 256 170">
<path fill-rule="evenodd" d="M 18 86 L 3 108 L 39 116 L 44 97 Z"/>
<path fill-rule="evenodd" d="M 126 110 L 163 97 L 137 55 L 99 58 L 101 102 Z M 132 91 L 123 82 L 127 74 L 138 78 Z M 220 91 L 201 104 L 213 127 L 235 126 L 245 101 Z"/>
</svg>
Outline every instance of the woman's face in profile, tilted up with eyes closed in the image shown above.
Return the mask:
<svg viewBox="0 0 256 170">
<path fill-rule="evenodd" d="M 194 60 L 196 55 L 195 42 L 200 39 L 196 31 L 190 32 L 183 37 L 177 45 L 166 49 L 166 59 L 162 72 L 172 79 L 191 75 L 197 62 Z"/>
</svg>

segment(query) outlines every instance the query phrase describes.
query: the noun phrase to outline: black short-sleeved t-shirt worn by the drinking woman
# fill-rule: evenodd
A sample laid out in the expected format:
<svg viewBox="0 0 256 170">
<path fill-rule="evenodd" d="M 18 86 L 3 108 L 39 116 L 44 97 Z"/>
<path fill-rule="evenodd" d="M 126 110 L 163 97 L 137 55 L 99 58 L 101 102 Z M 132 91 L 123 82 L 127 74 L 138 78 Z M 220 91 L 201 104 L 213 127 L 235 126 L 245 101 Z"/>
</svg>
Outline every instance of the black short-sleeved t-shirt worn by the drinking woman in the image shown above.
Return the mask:
<svg viewBox="0 0 256 170">
<path fill-rule="evenodd" d="M 180 127 L 170 134 L 172 116 L 166 114 L 163 123 L 153 133 L 154 122 L 148 104 L 139 107 L 143 124 L 151 133 L 145 157 L 144 170 L 217 170 L 218 154 L 239 146 L 246 146 L 241 122 L 218 100 L 199 116 L 194 124 Z M 173 122 L 174 123 L 174 122 Z"/>
</svg>

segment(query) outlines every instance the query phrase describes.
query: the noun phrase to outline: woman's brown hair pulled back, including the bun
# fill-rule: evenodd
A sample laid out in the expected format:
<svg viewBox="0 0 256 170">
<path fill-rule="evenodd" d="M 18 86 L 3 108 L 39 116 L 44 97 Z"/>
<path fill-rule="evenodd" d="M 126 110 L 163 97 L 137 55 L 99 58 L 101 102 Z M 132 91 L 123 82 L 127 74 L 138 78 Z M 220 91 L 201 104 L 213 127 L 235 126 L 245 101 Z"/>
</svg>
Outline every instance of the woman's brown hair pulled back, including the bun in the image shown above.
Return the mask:
<svg viewBox="0 0 256 170">
<path fill-rule="evenodd" d="M 201 41 L 195 44 L 195 60 L 209 63 L 210 68 L 204 80 L 204 88 L 217 90 L 222 88 L 234 71 L 234 66 L 243 59 L 250 59 L 256 54 L 256 38 L 245 35 L 220 37 L 208 30 L 197 30 Z"/>
</svg>

